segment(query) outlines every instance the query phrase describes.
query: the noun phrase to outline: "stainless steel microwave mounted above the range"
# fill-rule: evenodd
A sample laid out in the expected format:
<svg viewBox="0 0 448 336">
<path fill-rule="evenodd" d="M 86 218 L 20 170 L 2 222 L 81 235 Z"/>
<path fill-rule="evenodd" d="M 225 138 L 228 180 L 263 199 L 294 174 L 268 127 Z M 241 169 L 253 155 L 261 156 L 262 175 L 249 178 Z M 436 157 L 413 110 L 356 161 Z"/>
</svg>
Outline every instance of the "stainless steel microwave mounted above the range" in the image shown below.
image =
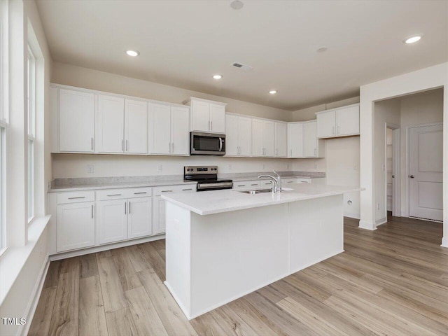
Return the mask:
<svg viewBox="0 0 448 336">
<path fill-rule="evenodd" d="M 225 155 L 225 134 L 190 132 L 190 155 Z"/>
</svg>

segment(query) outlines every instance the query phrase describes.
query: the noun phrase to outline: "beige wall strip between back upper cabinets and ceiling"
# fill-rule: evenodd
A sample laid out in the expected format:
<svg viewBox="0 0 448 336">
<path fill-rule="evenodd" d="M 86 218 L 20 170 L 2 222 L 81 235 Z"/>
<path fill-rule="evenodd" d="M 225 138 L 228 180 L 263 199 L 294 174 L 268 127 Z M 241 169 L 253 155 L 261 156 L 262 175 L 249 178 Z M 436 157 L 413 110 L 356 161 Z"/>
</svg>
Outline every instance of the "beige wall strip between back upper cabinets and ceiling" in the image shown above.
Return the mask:
<svg viewBox="0 0 448 336">
<path fill-rule="evenodd" d="M 232 113 L 283 121 L 290 121 L 291 118 L 290 111 L 58 62 L 54 62 L 52 65 L 51 81 L 57 84 L 127 94 L 134 97 L 155 99 L 175 104 L 181 104 L 189 97 L 198 97 L 227 103 L 226 111 Z"/>
</svg>

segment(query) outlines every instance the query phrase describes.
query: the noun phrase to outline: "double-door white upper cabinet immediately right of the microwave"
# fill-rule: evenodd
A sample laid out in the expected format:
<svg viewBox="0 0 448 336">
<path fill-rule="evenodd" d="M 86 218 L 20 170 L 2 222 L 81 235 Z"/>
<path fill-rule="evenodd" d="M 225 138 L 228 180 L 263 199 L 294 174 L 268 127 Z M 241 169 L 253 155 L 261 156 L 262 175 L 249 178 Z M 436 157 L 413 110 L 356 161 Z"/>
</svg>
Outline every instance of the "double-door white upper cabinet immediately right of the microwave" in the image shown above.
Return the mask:
<svg viewBox="0 0 448 336">
<path fill-rule="evenodd" d="M 251 156 L 252 119 L 228 114 L 225 120 L 225 155 Z"/>
</svg>

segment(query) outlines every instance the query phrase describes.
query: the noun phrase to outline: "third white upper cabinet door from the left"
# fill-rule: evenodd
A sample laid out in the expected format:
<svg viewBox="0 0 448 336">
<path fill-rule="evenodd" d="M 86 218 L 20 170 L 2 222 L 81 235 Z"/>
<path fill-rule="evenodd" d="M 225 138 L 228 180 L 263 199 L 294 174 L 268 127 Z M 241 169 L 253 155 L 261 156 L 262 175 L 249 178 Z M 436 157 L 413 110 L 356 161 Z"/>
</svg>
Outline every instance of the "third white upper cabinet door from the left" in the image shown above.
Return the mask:
<svg viewBox="0 0 448 336">
<path fill-rule="evenodd" d="M 125 99 L 125 152 L 146 154 L 148 145 L 148 104 Z"/>
</svg>

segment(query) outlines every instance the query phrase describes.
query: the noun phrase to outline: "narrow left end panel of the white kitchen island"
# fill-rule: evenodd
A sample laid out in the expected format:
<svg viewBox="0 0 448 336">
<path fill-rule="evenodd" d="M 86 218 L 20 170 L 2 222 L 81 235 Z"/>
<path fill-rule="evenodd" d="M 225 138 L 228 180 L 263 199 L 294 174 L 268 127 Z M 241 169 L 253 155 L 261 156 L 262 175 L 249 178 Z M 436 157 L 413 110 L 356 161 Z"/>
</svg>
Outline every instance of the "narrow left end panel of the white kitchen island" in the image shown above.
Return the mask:
<svg viewBox="0 0 448 336">
<path fill-rule="evenodd" d="M 165 285 L 190 318 L 190 218 L 189 210 L 167 202 Z"/>
</svg>

